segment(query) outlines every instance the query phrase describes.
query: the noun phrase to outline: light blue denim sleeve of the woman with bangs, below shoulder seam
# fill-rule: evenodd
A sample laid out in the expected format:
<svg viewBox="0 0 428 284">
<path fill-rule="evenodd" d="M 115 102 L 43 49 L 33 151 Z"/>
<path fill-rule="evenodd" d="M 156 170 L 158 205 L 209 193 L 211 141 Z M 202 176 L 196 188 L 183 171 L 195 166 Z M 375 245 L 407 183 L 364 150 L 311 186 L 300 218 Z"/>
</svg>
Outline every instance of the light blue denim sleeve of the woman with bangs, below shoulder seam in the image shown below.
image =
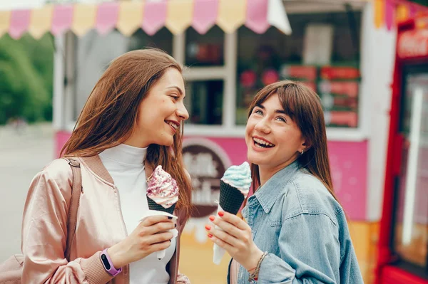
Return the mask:
<svg viewBox="0 0 428 284">
<path fill-rule="evenodd" d="M 338 232 L 325 214 L 300 214 L 285 220 L 278 240 L 280 257 L 272 253 L 265 257 L 258 283 L 342 283 Z"/>
</svg>

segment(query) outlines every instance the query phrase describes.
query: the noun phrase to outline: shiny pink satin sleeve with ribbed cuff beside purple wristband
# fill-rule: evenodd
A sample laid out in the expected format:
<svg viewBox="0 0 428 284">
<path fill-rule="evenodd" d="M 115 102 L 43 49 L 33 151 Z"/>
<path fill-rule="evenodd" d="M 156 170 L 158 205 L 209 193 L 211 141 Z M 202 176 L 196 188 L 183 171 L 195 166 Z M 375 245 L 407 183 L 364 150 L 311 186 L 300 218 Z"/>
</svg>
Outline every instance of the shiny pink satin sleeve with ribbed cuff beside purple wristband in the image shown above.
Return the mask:
<svg viewBox="0 0 428 284">
<path fill-rule="evenodd" d="M 68 262 L 64 256 L 71 169 L 61 177 L 44 170 L 31 182 L 22 223 L 22 283 L 107 283 L 111 280 L 96 252 Z"/>
</svg>

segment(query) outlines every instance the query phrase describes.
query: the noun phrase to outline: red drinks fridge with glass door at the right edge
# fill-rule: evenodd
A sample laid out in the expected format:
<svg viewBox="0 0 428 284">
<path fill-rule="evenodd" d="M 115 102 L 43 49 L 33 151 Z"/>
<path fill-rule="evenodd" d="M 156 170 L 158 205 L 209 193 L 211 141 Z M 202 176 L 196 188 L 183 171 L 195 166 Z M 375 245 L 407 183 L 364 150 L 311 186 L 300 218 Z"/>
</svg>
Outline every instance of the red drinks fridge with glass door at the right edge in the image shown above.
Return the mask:
<svg viewBox="0 0 428 284">
<path fill-rule="evenodd" d="M 428 283 L 428 14 L 398 27 L 377 283 Z"/>
</svg>

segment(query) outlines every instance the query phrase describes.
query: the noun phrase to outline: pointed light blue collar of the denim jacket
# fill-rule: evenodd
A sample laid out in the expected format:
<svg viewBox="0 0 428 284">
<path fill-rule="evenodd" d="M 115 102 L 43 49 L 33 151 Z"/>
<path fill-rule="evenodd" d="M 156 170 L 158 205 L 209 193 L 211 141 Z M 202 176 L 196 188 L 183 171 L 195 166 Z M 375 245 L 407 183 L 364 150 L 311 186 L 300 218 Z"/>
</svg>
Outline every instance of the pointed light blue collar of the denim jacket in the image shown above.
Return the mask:
<svg viewBox="0 0 428 284">
<path fill-rule="evenodd" d="M 260 205 L 263 207 L 263 210 L 266 213 L 269 213 L 278 196 L 280 196 L 280 192 L 282 189 L 284 189 L 285 184 L 287 184 L 290 179 L 292 179 L 299 169 L 299 162 L 292 162 L 284 169 L 281 169 L 279 172 L 275 173 L 263 186 L 260 186 L 255 191 L 254 196 L 259 201 Z"/>
</svg>

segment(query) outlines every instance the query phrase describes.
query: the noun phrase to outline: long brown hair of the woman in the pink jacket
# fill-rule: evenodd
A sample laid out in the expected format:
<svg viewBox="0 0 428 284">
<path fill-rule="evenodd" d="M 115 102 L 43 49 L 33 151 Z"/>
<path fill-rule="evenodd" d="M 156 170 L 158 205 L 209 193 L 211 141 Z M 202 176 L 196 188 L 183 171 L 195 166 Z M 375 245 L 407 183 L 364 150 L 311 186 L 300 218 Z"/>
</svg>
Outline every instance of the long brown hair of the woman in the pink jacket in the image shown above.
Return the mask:
<svg viewBox="0 0 428 284">
<path fill-rule="evenodd" d="M 92 157 L 125 142 L 136 124 L 140 102 L 168 68 L 182 72 L 174 58 L 155 48 L 130 51 L 112 61 L 89 95 L 61 155 Z M 177 208 L 185 211 L 187 220 L 191 185 L 183 163 L 182 137 L 183 122 L 171 147 L 149 145 L 146 165 L 152 169 L 162 165 L 177 181 Z"/>
</svg>

